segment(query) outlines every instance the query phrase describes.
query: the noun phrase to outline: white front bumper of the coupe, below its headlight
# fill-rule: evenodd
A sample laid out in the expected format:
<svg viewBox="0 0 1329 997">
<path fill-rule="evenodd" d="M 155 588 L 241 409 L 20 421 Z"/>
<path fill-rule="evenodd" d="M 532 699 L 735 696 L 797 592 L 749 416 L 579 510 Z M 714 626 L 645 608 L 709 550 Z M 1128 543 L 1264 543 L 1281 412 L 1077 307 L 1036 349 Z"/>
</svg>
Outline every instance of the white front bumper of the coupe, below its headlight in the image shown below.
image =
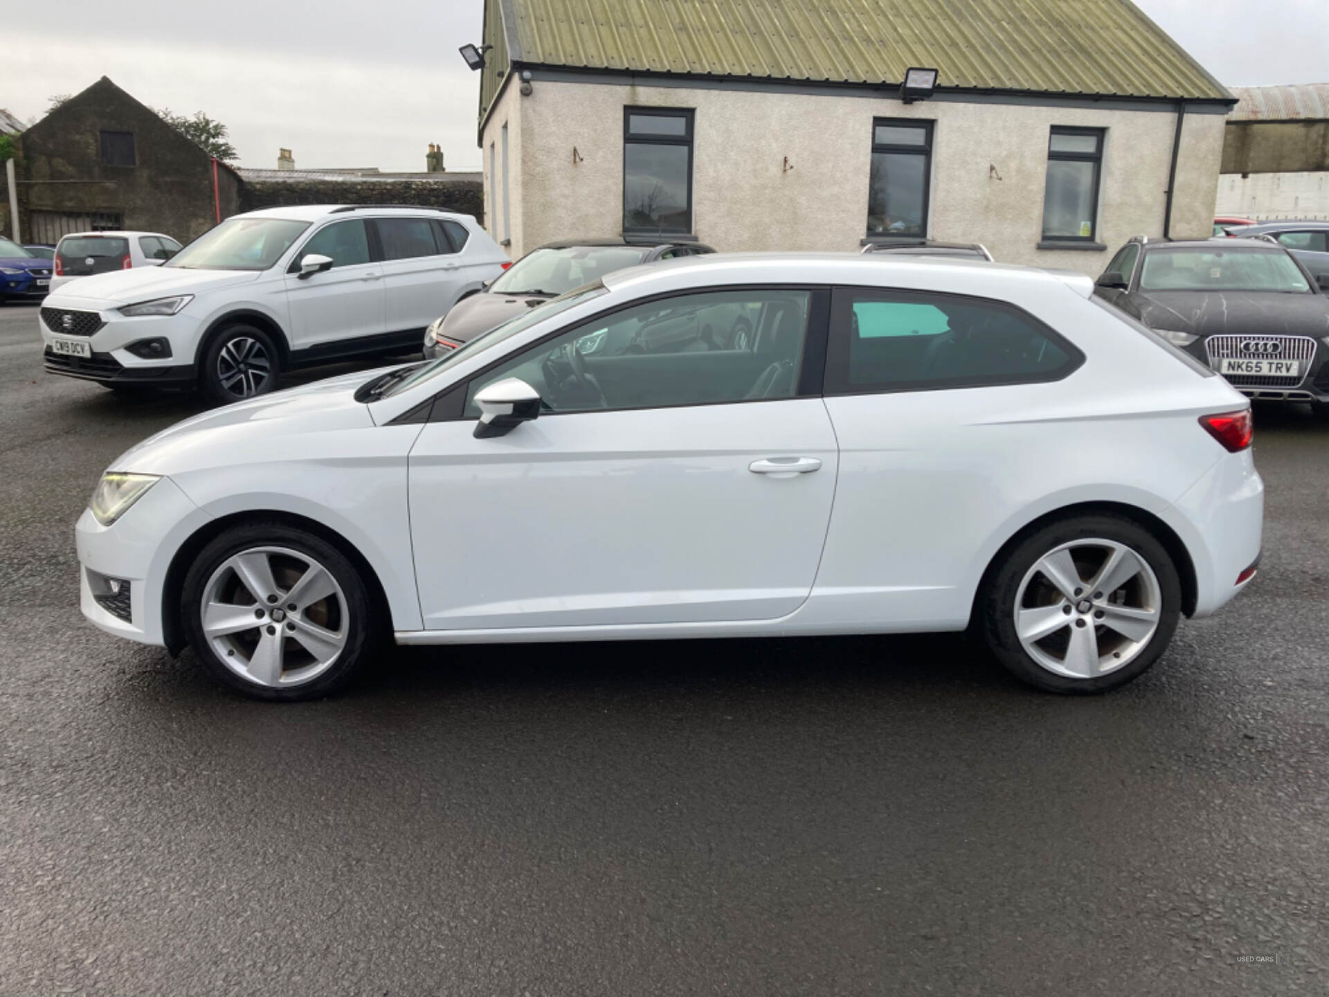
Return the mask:
<svg viewBox="0 0 1329 997">
<path fill-rule="evenodd" d="M 210 520 L 169 477 L 148 489 L 109 526 L 84 509 L 74 526 L 82 614 L 116 637 L 163 646 L 166 572 L 179 545 Z M 97 601 L 105 593 L 106 578 L 129 582 L 129 619 Z"/>
</svg>

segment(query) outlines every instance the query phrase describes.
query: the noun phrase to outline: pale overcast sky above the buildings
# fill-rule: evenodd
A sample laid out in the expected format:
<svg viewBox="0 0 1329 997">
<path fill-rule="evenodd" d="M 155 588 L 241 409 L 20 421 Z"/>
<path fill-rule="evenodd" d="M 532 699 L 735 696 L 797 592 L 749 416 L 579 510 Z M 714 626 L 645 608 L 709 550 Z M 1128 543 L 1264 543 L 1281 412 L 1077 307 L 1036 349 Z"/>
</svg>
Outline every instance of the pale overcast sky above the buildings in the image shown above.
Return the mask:
<svg viewBox="0 0 1329 997">
<path fill-rule="evenodd" d="M 1329 81 L 1329 0 L 1136 0 L 1232 86 Z M 241 165 L 480 167 L 476 74 L 482 0 L 61 0 L 9 17 L 0 108 L 41 117 L 56 93 L 109 76 L 145 104 L 226 122 Z M 19 5 L 23 8 L 23 5 Z M 1276 13 L 1272 13 L 1276 11 Z"/>
</svg>

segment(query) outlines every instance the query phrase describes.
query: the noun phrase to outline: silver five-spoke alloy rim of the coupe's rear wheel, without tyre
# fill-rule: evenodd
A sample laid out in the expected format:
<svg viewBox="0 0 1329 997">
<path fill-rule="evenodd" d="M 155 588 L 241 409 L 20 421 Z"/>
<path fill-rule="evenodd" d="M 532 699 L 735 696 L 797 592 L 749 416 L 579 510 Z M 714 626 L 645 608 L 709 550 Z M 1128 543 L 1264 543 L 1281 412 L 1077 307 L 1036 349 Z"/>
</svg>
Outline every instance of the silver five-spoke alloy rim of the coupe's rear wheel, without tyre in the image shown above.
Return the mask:
<svg viewBox="0 0 1329 997">
<path fill-rule="evenodd" d="M 1154 569 L 1115 540 L 1049 550 L 1015 593 L 1015 634 L 1041 667 L 1098 678 L 1134 661 L 1154 638 L 1163 597 Z"/>
</svg>

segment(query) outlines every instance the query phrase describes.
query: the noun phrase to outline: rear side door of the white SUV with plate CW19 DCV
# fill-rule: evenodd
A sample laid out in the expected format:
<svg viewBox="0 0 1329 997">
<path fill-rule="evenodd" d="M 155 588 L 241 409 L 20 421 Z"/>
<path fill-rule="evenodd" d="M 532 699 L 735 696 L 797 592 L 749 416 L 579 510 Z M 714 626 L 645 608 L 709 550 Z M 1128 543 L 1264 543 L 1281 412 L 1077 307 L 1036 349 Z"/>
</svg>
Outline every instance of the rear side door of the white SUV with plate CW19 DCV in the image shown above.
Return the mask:
<svg viewBox="0 0 1329 997">
<path fill-rule="evenodd" d="M 429 218 L 375 218 L 383 246 L 388 332 L 419 332 L 461 295 L 459 254 Z"/>
</svg>

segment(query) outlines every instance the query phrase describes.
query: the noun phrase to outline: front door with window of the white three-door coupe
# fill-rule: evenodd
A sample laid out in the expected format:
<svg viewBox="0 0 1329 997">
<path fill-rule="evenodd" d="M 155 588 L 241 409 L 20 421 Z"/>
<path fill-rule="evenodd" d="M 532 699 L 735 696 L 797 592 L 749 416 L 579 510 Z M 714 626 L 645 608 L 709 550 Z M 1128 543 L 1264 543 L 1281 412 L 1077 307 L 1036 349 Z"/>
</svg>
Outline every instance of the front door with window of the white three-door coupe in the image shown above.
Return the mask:
<svg viewBox="0 0 1329 997">
<path fill-rule="evenodd" d="M 763 348 L 634 350 L 662 315 L 722 302 L 756 306 Z M 425 626 L 698 623 L 797 609 L 839 464 L 815 359 L 828 306 L 828 291 L 809 288 L 637 303 L 448 392 L 409 459 Z M 541 392 L 542 415 L 477 439 L 476 392 L 513 376 Z"/>
</svg>

